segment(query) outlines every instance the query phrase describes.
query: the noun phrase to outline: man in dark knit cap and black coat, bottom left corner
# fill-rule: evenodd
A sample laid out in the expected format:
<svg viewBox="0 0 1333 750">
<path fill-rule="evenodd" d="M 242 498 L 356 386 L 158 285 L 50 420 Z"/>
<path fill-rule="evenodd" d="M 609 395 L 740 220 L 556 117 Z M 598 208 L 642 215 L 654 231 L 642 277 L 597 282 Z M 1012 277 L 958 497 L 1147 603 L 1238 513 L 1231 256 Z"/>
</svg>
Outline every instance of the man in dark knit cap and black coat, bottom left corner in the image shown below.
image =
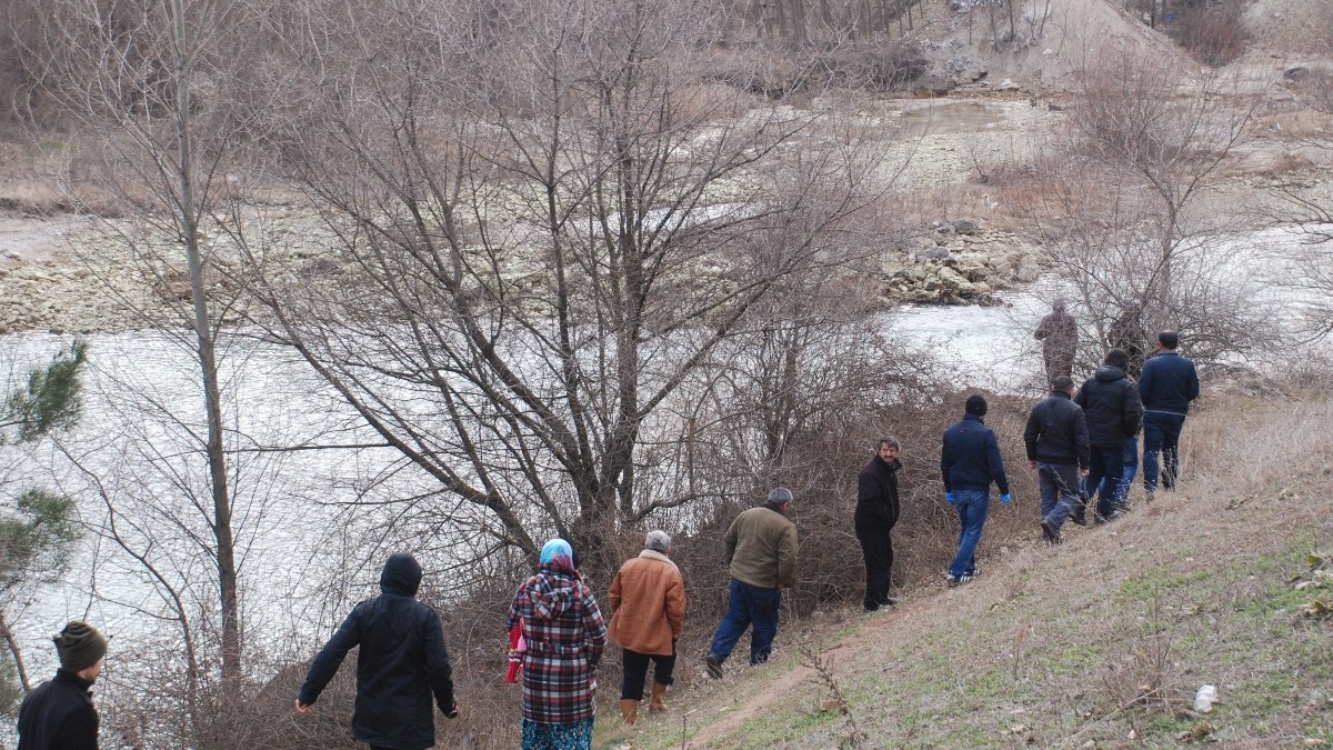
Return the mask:
<svg viewBox="0 0 1333 750">
<path fill-rule="evenodd" d="M 89 689 L 101 674 L 107 639 L 85 622 L 71 622 L 52 641 L 60 669 L 23 699 L 19 750 L 97 750 L 97 709 Z"/>
</svg>

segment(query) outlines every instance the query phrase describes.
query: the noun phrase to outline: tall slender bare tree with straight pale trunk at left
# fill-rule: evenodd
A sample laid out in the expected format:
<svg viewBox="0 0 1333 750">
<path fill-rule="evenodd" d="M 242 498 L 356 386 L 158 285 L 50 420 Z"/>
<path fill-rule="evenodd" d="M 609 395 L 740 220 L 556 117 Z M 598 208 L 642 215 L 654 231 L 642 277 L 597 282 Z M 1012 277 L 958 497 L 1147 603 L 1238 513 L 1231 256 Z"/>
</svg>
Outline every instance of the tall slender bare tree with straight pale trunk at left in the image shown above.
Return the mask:
<svg viewBox="0 0 1333 750">
<path fill-rule="evenodd" d="M 219 330 L 235 295 L 217 264 L 213 223 L 235 219 L 236 153 L 256 137 L 251 111 L 227 87 L 243 79 L 243 47 L 253 28 L 247 8 L 227 0 L 167 0 L 161 4 L 59 0 L 45 7 L 27 48 L 33 77 L 75 123 L 75 152 L 84 177 L 115 196 L 125 214 L 107 216 L 69 195 L 81 212 L 101 219 L 112 239 L 135 259 L 161 298 L 153 304 L 124 299 L 139 319 L 164 331 L 197 362 L 208 550 L 217 585 L 221 674 L 241 675 L 235 496 L 228 466 Z M 36 121 L 32 120 L 36 127 Z M 40 133 L 39 133 L 40 139 Z M 231 180 L 231 181 L 229 181 Z M 93 267 L 100 267 L 93 264 Z M 111 288 L 111 287 L 108 287 Z M 185 327 L 188 334 L 181 334 Z M 177 403 L 157 402 L 173 416 Z M 181 476 L 181 475 L 176 475 Z M 189 492 L 197 487 L 175 486 Z M 197 675 L 195 675 L 197 678 Z"/>
</svg>

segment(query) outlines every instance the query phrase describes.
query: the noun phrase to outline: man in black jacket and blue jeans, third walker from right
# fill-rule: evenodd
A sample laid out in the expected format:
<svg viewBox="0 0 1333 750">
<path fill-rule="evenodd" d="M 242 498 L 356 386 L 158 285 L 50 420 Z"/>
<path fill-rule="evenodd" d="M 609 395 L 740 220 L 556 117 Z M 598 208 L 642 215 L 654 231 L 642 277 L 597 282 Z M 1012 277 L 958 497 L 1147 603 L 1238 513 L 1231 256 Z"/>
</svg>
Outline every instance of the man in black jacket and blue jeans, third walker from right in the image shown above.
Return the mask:
<svg viewBox="0 0 1333 750">
<path fill-rule="evenodd" d="M 1037 470 L 1041 532 L 1048 544 L 1062 540 L 1060 527 L 1080 503 L 1080 478 L 1088 476 L 1088 423 L 1073 394 L 1072 378 L 1054 378 L 1050 395 L 1033 407 L 1022 434 L 1028 463 Z"/>
</svg>

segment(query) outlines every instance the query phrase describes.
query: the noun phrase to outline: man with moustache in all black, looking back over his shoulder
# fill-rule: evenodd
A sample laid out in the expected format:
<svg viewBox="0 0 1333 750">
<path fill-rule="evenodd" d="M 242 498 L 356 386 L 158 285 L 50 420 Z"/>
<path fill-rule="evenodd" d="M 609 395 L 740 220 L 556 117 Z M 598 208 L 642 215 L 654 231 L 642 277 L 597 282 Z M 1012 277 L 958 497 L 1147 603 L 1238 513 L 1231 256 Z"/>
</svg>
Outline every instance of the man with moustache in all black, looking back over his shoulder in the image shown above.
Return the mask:
<svg viewBox="0 0 1333 750">
<path fill-rule="evenodd" d="M 856 538 L 865 556 L 865 611 L 873 613 L 898 603 L 889 597 L 893 570 L 893 539 L 889 532 L 898 522 L 897 438 L 880 438 L 874 458 L 861 468 L 856 490 Z"/>
</svg>

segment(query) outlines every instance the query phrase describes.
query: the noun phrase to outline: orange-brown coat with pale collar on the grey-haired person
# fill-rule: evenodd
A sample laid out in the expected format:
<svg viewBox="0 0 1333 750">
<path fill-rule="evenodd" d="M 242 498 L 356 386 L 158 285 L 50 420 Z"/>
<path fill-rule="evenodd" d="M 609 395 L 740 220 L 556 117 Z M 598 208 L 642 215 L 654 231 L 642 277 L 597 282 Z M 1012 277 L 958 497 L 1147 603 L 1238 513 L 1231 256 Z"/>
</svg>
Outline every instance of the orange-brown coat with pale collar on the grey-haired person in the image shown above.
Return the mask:
<svg viewBox="0 0 1333 750">
<path fill-rule="evenodd" d="M 685 581 L 676 563 L 653 550 L 625 562 L 611 582 L 611 611 L 612 641 L 640 654 L 670 655 L 672 639 L 685 626 Z"/>
</svg>

